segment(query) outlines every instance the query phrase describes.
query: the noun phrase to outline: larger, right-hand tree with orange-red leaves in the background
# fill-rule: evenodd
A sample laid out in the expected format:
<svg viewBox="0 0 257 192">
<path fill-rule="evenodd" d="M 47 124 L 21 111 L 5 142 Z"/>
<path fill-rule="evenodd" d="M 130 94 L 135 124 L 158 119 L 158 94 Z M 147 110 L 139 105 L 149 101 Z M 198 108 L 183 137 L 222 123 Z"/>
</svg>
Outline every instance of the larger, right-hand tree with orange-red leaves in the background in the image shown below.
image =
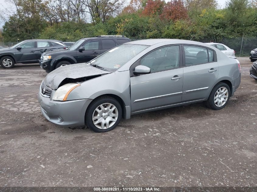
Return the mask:
<svg viewBox="0 0 257 192">
<path fill-rule="evenodd" d="M 163 8 L 161 19 L 181 20 L 188 17 L 187 9 L 181 0 L 171 0 Z"/>
</svg>

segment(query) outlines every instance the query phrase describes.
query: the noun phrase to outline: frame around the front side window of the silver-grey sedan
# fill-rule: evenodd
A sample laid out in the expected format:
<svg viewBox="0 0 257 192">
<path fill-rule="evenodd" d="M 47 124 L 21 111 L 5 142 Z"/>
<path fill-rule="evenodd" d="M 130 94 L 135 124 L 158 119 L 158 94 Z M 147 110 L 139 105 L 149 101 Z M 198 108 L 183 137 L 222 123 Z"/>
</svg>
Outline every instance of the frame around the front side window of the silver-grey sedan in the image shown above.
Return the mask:
<svg viewBox="0 0 257 192">
<path fill-rule="evenodd" d="M 143 55 L 141 58 L 139 58 L 136 62 L 134 62 L 131 66 L 130 66 L 130 77 L 135 77 L 135 76 L 140 76 L 140 75 L 148 75 L 148 74 L 140 74 L 140 75 L 134 75 L 133 71 L 135 69 L 136 66 L 139 66 L 140 65 L 140 61 L 142 58 L 144 58 L 145 56 L 151 54 L 152 52 L 158 50 L 158 49 L 161 49 L 161 48 L 164 48 L 164 47 L 170 47 L 170 46 L 179 46 L 179 67 L 177 68 L 174 68 L 174 69 L 179 69 L 179 68 L 182 68 L 183 67 L 183 54 L 182 54 L 182 46 L 181 44 L 171 44 L 171 45 L 164 45 L 164 46 L 161 46 L 161 47 L 158 47 L 156 49 L 153 49 L 151 50 L 150 52 L 146 53 L 145 55 Z M 165 70 L 161 70 L 161 71 L 156 71 L 156 72 L 152 72 L 152 73 L 158 73 L 158 72 L 163 72 L 163 71 L 168 71 L 168 70 L 173 70 L 173 68 L 171 69 L 165 69 Z M 152 73 L 149 73 L 149 74 L 152 74 Z"/>
</svg>

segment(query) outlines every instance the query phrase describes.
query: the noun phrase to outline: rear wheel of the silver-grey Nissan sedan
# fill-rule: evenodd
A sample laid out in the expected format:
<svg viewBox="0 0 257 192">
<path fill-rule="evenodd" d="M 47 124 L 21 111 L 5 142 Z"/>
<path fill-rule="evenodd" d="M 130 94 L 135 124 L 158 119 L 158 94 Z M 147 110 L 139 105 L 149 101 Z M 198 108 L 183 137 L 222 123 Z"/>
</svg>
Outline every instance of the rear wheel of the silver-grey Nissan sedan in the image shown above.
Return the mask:
<svg viewBox="0 0 257 192">
<path fill-rule="evenodd" d="M 214 110 L 221 110 L 230 98 L 230 88 L 226 83 L 218 83 L 210 92 L 210 96 L 206 101 L 207 107 Z"/>
</svg>

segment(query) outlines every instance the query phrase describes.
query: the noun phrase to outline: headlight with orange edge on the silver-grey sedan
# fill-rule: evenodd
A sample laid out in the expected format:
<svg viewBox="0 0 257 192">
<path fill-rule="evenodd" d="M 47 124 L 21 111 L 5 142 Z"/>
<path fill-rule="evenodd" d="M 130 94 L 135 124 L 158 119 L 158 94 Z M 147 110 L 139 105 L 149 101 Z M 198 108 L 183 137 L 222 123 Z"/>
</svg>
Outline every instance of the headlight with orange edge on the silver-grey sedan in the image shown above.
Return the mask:
<svg viewBox="0 0 257 192">
<path fill-rule="evenodd" d="M 78 86 L 80 86 L 78 83 L 65 84 L 56 90 L 52 99 L 55 101 L 66 101 L 71 91 Z"/>
</svg>

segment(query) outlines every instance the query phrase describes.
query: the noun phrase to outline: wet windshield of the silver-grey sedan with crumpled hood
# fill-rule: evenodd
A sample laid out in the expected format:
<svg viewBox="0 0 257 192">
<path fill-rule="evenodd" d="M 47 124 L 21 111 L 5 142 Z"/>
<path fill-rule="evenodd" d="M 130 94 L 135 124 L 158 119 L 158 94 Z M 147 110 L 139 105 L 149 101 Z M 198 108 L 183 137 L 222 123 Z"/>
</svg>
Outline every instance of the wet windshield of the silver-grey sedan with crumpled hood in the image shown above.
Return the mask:
<svg viewBox="0 0 257 192">
<path fill-rule="evenodd" d="M 90 65 L 96 65 L 108 71 L 116 71 L 148 47 L 148 45 L 122 44 L 92 60 Z"/>
</svg>

